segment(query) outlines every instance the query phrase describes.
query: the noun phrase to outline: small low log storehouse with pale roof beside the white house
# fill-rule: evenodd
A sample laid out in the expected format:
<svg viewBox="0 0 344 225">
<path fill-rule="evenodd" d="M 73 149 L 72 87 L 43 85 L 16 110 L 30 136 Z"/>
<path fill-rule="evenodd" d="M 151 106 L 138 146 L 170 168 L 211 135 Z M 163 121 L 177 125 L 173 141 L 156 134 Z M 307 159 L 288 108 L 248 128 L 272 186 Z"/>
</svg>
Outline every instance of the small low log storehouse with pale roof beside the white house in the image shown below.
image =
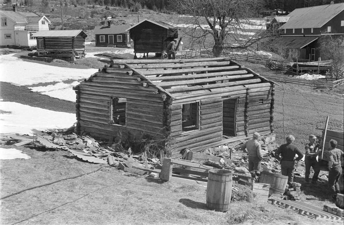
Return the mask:
<svg viewBox="0 0 344 225">
<path fill-rule="evenodd" d="M 85 54 L 85 38 L 83 30 L 49 30 L 38 31 L 32 35 L 37 40 L 39 56 L 71 57 Z"/>
</svg>

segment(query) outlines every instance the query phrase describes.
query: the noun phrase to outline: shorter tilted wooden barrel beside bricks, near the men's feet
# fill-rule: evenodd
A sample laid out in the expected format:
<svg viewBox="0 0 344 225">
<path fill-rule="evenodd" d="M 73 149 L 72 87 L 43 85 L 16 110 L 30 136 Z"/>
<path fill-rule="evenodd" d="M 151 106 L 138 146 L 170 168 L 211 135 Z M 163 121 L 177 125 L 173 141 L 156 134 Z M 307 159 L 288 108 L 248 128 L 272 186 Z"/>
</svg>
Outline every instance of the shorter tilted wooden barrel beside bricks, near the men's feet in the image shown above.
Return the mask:
<svg viewBox="0 0 344 225">
<path fill-rule="evenodd" d="M 273 193 L 283 194 L 284 191 L 286 191 L 288 177 L 276 173 L 263 171 L 259 177 L 259 182 L 271 184 L 269 189 L 269 195 Z"/>
</svg>

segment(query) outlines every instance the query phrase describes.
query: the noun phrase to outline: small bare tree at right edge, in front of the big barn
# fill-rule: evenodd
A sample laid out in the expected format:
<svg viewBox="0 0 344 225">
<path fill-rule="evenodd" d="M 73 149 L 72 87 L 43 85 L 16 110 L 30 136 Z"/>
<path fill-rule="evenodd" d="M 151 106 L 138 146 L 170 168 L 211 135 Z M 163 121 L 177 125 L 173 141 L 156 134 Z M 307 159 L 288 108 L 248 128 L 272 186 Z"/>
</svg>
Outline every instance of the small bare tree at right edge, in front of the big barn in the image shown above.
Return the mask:
<svg viewBox="0 0 344 225">
<path fill-rule="evenodd" d="M 324 35 L 319 42 L 322 59 L 332 60 L 333 73 L 338 79 L 340 70 L 344 70 L 344 38 Z"/>
</svg>

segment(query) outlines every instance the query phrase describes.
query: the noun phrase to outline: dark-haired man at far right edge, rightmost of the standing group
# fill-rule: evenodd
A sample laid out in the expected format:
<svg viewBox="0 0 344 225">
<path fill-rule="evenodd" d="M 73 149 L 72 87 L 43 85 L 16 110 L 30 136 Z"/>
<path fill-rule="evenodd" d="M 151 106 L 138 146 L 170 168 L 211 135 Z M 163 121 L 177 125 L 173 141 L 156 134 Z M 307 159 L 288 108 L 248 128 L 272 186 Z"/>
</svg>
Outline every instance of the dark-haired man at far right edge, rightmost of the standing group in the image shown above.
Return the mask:
<svg viewBox="0 0 344 225">
<path fill-rule="evenodd" d="M 342 173 L 342 160 L 343 160 L 343 152 L 342 150 L 336 148 L 337 141 L 331 139 L 329 142 L 330 151 L 327 153 L 329 158 L 329 188 L 331 192 L 331 197 L 334 201 L 336 201 L 337 194 L 340 194 L 340 189 L 338 185 L 339 177 Z"/>
</svg>

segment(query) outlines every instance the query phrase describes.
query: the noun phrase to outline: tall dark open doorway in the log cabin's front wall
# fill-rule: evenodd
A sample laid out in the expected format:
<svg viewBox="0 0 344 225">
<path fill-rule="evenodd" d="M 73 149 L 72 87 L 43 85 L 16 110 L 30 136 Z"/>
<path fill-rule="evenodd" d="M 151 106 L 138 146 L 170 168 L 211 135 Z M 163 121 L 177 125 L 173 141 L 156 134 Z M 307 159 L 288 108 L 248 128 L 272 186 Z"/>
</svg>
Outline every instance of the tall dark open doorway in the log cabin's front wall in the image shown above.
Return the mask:
<svg viewBox="0 0 344 225">
<path fill-rule="evenodd" d="M 223 113 L 222 113 L 222 126 L 223 135 L 229 137 L 236 136 L 236 110 L 238 99 L 224 99 L 223 100 Z"/>
</svg>

